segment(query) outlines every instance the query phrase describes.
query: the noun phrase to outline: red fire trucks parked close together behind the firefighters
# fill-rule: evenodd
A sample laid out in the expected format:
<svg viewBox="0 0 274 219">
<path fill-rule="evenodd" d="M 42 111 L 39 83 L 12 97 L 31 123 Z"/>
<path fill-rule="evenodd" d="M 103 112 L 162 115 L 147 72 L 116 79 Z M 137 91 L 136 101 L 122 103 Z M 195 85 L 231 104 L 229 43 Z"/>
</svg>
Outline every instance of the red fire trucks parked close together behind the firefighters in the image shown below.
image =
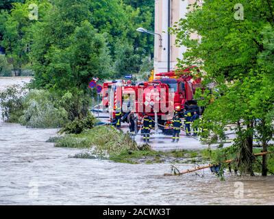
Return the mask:
<svg viewBox="0 0 274 219">
<path fill-rule="evenodd" d="M 201 79 L 193 79 L 188 74 L 191 68 L 194 66 L 184 70 L 181 77 L 176 77 L 174 71 L 159 73 L 153 81 L 136 85 L 128 81 L 105 82 L 103 105 L 108 107 L 110 120 L 114 119 L 116 107 L 119 105 L 125 118 L 128 112 L 134 112 L 140 122 L 143 115 L 148 114 L 160 125 L 159 129 L 164 133 L 171 133 L 169 124 L 174 111 L 182 117 L 184 109 L 201 114 L 201 108 L 193 99 L 196 89 L 201 88 Z"/>
</svg>

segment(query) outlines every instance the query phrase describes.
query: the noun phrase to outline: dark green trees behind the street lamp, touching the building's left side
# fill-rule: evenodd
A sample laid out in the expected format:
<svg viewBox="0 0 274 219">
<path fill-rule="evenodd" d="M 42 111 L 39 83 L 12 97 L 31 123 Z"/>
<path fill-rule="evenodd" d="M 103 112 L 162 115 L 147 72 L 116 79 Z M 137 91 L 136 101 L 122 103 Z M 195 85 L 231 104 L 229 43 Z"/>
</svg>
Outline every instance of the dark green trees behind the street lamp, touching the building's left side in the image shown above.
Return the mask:
<svg viewBox="0 0 274 219">
<path fill-rule="evenodd" d="M 136 4 L 128 1 L 121 3 L 119 0 L 91 1 L 90 23 L 99 30 L 99 33 L 106 34 L 114 62 L 113 78 L 123 77 L 132 70 L 138 73 L 142 59 L 153 55 L 153 36 L 138 34 L 136 31 L 141 26 L 147 29 L 154 28 L 154 1 L 149 2 L 147 6 L 144 2 Z M 123 54 L 125 47 L 127 54 L 130 55 L 128 57 Z M 134 66 L 130 67 L 132 60 Z M 131 70 L 126 69 L 125 66 L 129 66 Z"/>
</svg>

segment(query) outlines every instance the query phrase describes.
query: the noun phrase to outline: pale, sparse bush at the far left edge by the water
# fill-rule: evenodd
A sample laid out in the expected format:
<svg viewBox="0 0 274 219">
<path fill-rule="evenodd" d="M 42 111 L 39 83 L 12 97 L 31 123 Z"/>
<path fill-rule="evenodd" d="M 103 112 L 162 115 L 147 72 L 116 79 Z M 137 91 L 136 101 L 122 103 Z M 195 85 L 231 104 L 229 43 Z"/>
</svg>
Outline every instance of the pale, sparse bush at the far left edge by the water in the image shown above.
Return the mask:
<svg viewBox="0 0 274 219">
<path fill-rule="evenodd" d="M 8 86 L 0 92 L 2 118 L 8 123 L 18 123 L 23 115 L 23 96 L 27 91 L 20 85 Z"/>
</svg>

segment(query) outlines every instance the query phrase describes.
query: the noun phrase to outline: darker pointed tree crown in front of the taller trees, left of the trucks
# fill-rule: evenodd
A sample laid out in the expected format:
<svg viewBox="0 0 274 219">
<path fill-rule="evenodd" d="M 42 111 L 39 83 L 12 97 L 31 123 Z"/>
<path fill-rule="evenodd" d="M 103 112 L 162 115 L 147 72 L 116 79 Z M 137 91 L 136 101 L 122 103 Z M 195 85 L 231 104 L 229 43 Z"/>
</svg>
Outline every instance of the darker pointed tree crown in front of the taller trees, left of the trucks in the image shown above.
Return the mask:
<svg viewBox="0 0 274 219">
<path fill-rule="evenodd" d="M 110 57 L 105 40 L 88 21 L 76 27 L 66 42 L 69 47 L 61 49 L 53 45 L 46 56 L 47 87 L 87 90 L 92 77 L 108 77 Z"/>
</svg>

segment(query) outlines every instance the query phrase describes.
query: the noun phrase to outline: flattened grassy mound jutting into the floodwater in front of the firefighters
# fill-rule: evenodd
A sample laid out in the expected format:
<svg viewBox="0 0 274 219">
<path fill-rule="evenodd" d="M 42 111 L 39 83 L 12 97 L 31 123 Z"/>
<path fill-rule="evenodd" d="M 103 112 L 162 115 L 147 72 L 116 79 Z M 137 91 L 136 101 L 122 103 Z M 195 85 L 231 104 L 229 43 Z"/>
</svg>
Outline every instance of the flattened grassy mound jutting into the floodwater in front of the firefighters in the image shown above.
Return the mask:
<svg viewBox="0 0 274 219">
<path fill-rule="evenodd" d="M 129 164 L 154 164 L 154 163 L 181 163 L 192 164 L 207 162 L 199 151 L 154 151 L 151 146 L 144 144 L 138 146 L 128 134 L 112 126 L 93 127 L 79 134 L 66 134 L 58 139 L 51 140 L 56 147 L 89 149 L 76 154 L 75 158 L 93 159 L 108 158 L 114 162 Z"/>
</svg>

